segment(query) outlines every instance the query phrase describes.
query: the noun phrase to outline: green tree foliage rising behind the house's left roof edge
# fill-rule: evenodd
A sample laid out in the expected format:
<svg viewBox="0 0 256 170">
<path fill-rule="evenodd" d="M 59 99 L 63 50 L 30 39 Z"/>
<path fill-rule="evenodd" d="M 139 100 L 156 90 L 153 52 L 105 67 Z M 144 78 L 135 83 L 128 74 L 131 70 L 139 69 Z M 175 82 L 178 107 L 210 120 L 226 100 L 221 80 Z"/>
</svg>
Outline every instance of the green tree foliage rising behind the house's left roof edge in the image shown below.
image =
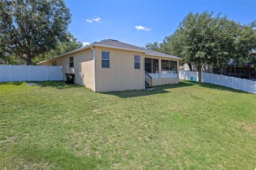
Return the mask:
<svg viewBox="0 0 256 170">
<path fill-rule="evenodd" d="M 32 60 L 32 63 L 36 64 L 37 62 L 53 58 L 54 56 L 58 56 L 58 55 L 67 53 L 69 51 L 76 50 L 78 48 L 81 48 L 82 46 L 83 46 L 83 44 L 80 41 L 78 41 L 77 38 L 75 38 L 71 33 L 68 33 L 65 41 L 60 42 L 50 52 L 36 56 Z"/>
</svg>

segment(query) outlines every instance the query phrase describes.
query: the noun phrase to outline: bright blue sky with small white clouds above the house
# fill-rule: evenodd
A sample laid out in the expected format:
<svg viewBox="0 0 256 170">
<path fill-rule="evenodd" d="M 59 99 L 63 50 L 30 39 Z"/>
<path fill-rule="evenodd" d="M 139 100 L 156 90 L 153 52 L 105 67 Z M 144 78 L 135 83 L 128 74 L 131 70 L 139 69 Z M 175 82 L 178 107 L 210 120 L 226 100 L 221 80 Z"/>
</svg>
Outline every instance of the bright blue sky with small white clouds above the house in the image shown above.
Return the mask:
<svg viewBox="0 0 256 170">
<path fill-rule="evenodd" d="M 191 12 L 221 12 L 242 24 L 256 19 L 256 1 L 74 1 L 71 33 L 84 45 L 103 39 L 145 46 L 161 43 Z"/>
</svg>

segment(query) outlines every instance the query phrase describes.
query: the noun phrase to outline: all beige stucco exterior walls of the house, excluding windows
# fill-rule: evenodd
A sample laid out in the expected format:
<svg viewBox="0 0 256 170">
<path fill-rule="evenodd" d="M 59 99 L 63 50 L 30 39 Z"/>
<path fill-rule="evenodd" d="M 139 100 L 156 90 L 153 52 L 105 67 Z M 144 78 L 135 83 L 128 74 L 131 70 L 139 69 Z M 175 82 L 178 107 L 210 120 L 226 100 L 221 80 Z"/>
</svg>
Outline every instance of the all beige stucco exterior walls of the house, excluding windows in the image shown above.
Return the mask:
<svg viewBox="0 0 256 170">
<path fill-rule="evenodd" d="M 143 54 L 115 48 L 99 47 L 95 48 L 95 82 L 96 92 L 141 90 L 144 87 L 143 82 Z M 109 51 L 110 68 L 101 68 L 101 51 Z M 134 69 L 134 55 L 140 55 L 140 69 Z M 69 68 L 69 57 L 74 56 L 74 68 Z M 159 59 L 158 65 L 161 70 L 161 60 L 177 61 L 176 78 L 153 78 L 153 86 L 163 84 L 179 83 L 179 60 L 163 58 L 158 56 L 145 55 L 145 58 Z M 39 65 L 47 66 L 51 62 L 57 61 L 57 66 L 62 66 L 63 78 L 65 73 L 75 74 L 75 84 L 82 85 L 94 90 L 94 62 L 93 50 L 91 48 L 61 56 L 58 59 L 43 62 Z"/>
</svg>

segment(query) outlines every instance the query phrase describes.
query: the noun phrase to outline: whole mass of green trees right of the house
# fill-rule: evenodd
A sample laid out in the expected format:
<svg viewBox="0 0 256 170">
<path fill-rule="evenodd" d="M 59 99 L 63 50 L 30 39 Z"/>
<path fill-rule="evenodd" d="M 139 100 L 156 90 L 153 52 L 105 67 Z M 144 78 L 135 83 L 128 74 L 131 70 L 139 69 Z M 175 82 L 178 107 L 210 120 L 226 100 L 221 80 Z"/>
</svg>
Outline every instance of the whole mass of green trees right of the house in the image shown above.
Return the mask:
<svg viewBox="0 0 256 170">
<path fill-rule="evenodd" d="M 181 64 L 187 63 L 190 70 L 196 66 L 201 81 L 203 64 L 220 69 L 227 68 L 231 59 L 236 63 L 250 62 L 256 65 L 256 21 L 250 25 L 213 16 L 207 11 L 189 13 L 170 36 L 166 36 L 157 49 L 160 52 L 179 56 Z M 151 43 L 149 43 L 152 45 Z"/>
</svg>

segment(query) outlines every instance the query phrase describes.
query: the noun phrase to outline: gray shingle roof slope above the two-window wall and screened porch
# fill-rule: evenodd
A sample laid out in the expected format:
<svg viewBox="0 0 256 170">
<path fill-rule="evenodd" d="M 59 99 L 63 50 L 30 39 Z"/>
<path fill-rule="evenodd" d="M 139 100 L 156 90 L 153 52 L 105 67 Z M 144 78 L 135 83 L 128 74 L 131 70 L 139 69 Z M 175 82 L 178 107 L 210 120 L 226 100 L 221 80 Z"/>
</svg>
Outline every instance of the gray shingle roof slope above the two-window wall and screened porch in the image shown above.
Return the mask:
<svg viewBox="0 0 256 170">
<path fill-rule="evenodd" d="M 98 43 L 94 43 L 94 44 L 102 45 L 102 46 L 117 47 L 117 48 L 126 48 L 127 50 L 142 51 L 142 52 L 146 52 L 146 55 L 163 56 L 163 57 L 172 58 L 172 59 L 180 59 L 177 56 L 172 56 L 172 55 L 156 52 L 153 50 L 148 50 L 147 48 L 119 42 L 119 41 L 116 41 L 113 39 L 104 39 L 104 40 L 102 40 Z"/>
</svg>

